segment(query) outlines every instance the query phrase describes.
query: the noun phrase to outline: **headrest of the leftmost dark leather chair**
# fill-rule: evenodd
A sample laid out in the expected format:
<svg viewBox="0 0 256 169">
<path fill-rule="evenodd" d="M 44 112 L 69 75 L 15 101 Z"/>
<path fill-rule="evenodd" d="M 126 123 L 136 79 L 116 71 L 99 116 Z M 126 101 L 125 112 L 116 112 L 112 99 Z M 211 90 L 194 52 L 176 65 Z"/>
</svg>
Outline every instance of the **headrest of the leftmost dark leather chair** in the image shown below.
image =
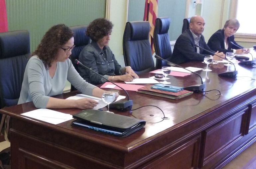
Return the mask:
<svg viewBox="0 0 256 169">
<path fill-rule="evenodd" d="M 29 31 L 17 30 L 0 33 L 0 59 L 30 53 Z"/>
</svg>

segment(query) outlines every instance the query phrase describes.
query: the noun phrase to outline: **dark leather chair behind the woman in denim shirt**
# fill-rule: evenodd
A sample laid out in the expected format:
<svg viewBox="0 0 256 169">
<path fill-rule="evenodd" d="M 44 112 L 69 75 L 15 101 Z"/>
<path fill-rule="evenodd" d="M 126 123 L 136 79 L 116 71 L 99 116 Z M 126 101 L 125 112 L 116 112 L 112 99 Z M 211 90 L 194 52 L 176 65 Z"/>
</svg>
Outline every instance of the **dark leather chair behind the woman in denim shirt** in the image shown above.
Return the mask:
<svg viewBox="0 0 256 169">
<path fill-rule="evenodd" d="M 87 26 L 85 25 L 79 25 L 79 26 L 71 26 L 69 27 L 74 32 L 74 45 L 75 47 L 72 50 L 72 54 L 69 56 L 70 60 L 72 61 L 76 71 L 77 64 L 74 63 L 74 60 L 78 60 L 78 56 L 82 49 L 90 43 L 90 38 L 85 35 Z M 76 90 L 74 86 L 71 85 L 70 91 Z"/>
</svg>

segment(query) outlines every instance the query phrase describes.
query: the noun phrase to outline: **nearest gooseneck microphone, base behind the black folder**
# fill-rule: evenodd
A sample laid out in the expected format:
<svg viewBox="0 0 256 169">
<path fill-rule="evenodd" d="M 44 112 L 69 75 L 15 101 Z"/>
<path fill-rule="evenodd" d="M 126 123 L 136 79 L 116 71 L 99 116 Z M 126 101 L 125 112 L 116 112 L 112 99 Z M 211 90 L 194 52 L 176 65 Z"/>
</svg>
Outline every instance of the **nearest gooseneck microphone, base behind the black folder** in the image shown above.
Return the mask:
<svg viewBox="0 0 256 169">
<path fill-rule="evenodd" d="M 92 71 L 93 73 L 96 73 L 97 75 L 101 76 L 102 78 L 106 79 L 108 82 L 110 83 L 113 83 L 111 82 L 110 80 L 108 80 L 107 78 L 103 77 L 102 75 L 100 75 L 99 73 L 93 71 L 92 69 L 90 69 L 89 67 L 83 65 L 83 63 L 79 62 L 77 59 L 74 61 L 76 64 L 79 64 L 80 66 L 82 67 L 85 67 L 87 69 L 89 69 L 90 71 Z M 114 85 L 118 86 L 117 84 L 113 83 Z M 120 87 L 120 86 L 118 86 Z M 111 103 L 109 105 L 109 108 L 115 108 L 119 111 L 128 111 L 128 110 L 131 110 L 132 109 L 132 105 L 133 105 L 133 101 L 130 100 L 129 98 L 129 95 L 127 93 L 126 90 L 124 90 L 122 87 L 120 87 L 123 91 L 125 91 L 126 95 L 127 95 L 127 101 L 126 100 L 120 100 L 118 102 L 115 102 L 115 103 Z"/>
</svg>

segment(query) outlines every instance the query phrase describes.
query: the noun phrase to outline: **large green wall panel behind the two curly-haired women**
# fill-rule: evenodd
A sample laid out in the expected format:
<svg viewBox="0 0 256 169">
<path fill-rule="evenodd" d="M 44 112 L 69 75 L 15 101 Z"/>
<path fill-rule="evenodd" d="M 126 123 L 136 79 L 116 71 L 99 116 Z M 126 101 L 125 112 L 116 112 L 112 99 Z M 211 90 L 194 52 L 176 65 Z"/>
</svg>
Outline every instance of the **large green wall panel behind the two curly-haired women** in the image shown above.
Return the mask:
<svg viewBox="0 0 256 169">
<path fill-rule="evenodd" d="M 29 30 L 33 52 L 53 25 L 89 24 L 105 17 L 106 0 L 5 0 L 8 30 Z"/>
</svg>

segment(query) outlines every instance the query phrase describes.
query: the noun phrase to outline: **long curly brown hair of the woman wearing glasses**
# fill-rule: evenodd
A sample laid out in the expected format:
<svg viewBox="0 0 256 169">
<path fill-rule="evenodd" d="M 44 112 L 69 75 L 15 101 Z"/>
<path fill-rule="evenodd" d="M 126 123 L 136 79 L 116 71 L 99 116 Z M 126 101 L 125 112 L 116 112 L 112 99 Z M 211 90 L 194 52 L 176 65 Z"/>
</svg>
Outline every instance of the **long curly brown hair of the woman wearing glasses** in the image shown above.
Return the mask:
<svg viewBox="0 0 256 169">
<path fill-rule="evenodd" d="M 73 37 L 73 31 L 64 24 L 51 27 L 43 36 L 32 56 L 37 55 L 43 61 L 46 68 L 57 58 L 57 52 L 62 45 Z"/>
</svg>

